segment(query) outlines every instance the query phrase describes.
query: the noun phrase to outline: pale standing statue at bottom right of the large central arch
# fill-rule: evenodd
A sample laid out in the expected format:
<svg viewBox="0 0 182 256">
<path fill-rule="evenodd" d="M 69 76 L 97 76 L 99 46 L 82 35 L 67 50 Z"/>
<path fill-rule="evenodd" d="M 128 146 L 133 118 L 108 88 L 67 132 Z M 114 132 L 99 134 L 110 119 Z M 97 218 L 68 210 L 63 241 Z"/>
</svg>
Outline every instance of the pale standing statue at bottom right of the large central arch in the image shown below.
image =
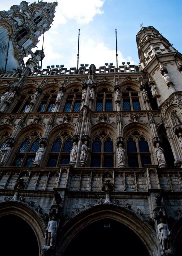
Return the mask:
<svg viewBox="0 0 182 256">
<path fill-rule="evenodd" d="M 169 235 L 170 231 L 166 224 L 164 224 L 163 218 L 160 219 L 159 225 L 158 225 L 158 235 L 159 235 L 159 241 L 162 245 L 162 250 L 166 251 L 168 249 L 168 241 L 169 241 Z"/>
</svg>

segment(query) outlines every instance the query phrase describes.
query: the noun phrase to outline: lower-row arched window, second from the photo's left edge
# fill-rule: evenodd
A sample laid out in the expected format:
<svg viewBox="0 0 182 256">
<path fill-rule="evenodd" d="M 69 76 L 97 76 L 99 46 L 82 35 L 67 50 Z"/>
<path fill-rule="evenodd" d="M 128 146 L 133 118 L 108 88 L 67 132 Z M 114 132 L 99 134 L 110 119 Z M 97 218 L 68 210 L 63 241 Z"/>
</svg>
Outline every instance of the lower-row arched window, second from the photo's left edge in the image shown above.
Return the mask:
<svg viewBox="0 0 182 256">
<path fill-rule="evenodd" d="M 39 148 L 39 141 L 40 137 L 36 132 L 25 138 L 24 141 L 21 142 L 12 166 L 31 166 Z"/>
</svg>

